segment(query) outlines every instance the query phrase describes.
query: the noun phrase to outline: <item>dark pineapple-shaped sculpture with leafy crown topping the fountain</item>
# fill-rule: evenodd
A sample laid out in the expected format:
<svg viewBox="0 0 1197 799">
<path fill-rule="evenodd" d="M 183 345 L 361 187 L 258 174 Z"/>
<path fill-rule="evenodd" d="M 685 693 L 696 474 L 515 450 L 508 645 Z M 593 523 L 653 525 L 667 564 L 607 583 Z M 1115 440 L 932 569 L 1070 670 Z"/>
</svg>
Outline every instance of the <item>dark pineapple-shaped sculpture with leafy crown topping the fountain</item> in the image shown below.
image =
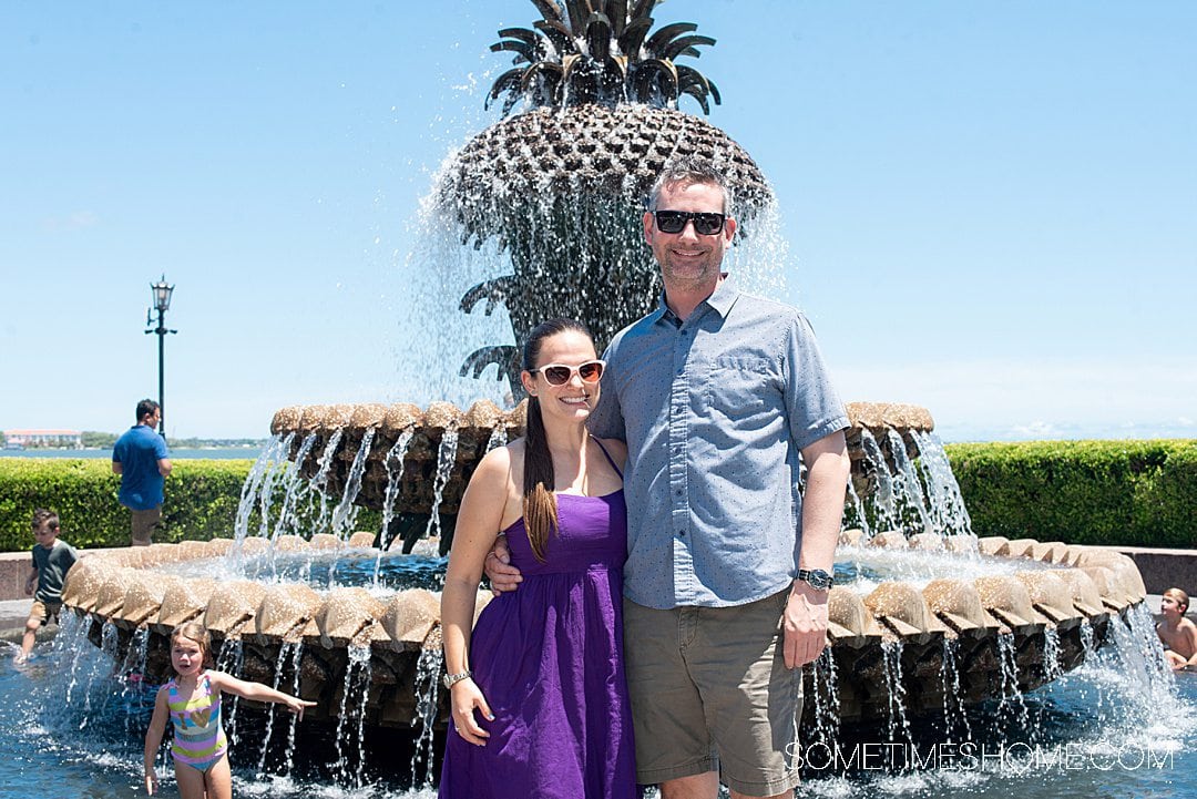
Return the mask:
<svg viewBox="0 0 1197 799">
<path fill-rule="evenodd" d="M 463 243 L 494 238 L 514 267 L 466 292 L 463 312 L 484 300 L 486 313 L 502 304 L 516 341 L 549 317 L 582 319 L 601 350 L 660 293 L 640 219 L 668 160 L 697 155 L 722 169 L 741 233 L 772 193 L 736 142 L 678 109 L 683 96 L 704 114 L 719 103 L 713 83 L 678 63 L 715 43 L 697 25 L 654 30 L 656 0 L 531 2 L 541 14 L 533 29 L 500 30 L 491 45 L 515 54 L 487 97 L 503 98 L 508 118 L 463 147 L 438 201 Z M 517 106 L 524 110 L 508 116 Z M 461 373 L 480 377 L 491 364 L 519 398 L 516 347 L 482 347 Z"/>
</svg>

